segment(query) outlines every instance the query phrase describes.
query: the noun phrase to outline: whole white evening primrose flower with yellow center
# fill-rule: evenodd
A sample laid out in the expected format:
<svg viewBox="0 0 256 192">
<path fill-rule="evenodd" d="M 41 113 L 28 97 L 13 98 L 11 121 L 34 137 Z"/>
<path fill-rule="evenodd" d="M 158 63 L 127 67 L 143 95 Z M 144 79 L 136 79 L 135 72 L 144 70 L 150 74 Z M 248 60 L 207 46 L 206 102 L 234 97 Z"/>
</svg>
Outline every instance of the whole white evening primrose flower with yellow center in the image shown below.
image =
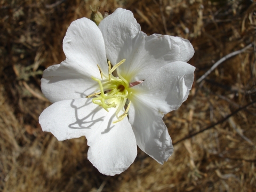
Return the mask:
<svg viewBox="0 0 256 192">
<path fill-rule="evenodd" d="M 44 70 L 42 92 L 53 104 L 39 117 L 58 140 L 85 136 L 87 157 L 107 175 L 126 170 L 139 148 L 163 164 L 173 153 L 162 120 L 189 94 L 194 54 L 180 37 L 147 36 L 131 11 L 117 9 L 100 22 L 71 23 L 63 39 L 66 60 Z"/>
</svg>

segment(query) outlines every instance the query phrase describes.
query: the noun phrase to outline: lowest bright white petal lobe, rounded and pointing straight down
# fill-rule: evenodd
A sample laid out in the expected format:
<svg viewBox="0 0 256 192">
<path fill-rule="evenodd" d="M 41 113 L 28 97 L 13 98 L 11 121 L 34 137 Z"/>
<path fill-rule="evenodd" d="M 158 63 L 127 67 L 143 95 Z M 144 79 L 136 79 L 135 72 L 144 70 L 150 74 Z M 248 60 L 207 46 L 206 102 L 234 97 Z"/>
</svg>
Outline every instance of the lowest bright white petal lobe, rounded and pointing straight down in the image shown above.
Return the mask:
<svg viewBox="0 0 256 192">
<path fill-rule="evenodd" d="M 88 159 L 102 174 L 115 175 L 133 163 L 137 144 L 127 117 L 116 124 L 111 124 L 109 119 L 113 119 L 113 115 L 104 119 L 95 137 L 88 141 Z"/>
</svg>

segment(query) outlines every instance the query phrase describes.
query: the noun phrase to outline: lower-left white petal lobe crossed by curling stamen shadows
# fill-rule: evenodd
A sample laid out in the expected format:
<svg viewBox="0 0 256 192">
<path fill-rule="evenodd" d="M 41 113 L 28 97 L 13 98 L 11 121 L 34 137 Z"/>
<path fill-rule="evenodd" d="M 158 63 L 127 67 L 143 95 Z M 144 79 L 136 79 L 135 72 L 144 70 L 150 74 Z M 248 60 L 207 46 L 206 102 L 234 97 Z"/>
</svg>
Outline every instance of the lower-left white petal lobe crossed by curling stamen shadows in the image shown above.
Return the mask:
<svg viewBox="0 0 256 192">
<path fill-rule="evenodd" d="M 53 103 L 39 116 L 42 130 L 51 132 L 59 141 L 90 134 L 106 114 L 88 101 L 85 98 Z"/>
</svg>

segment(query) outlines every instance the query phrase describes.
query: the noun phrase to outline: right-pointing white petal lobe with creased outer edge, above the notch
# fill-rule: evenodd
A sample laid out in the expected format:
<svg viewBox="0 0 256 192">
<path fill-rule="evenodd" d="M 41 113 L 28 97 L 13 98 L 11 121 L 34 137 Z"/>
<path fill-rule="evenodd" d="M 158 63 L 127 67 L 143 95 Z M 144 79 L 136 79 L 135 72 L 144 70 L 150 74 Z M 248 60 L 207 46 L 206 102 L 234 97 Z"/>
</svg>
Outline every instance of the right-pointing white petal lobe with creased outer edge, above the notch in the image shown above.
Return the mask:
<svg viewBox="0 0 256 192">
<path fill-rule="evenodd" d="M 178 109 L 188 98 L 194 81 L 194 71 L 195 67 L 188 63 L 172 62 L 159 68 L 131 89 L 143 103 L 161 114 L 166 114 Z"/>
</svg>

